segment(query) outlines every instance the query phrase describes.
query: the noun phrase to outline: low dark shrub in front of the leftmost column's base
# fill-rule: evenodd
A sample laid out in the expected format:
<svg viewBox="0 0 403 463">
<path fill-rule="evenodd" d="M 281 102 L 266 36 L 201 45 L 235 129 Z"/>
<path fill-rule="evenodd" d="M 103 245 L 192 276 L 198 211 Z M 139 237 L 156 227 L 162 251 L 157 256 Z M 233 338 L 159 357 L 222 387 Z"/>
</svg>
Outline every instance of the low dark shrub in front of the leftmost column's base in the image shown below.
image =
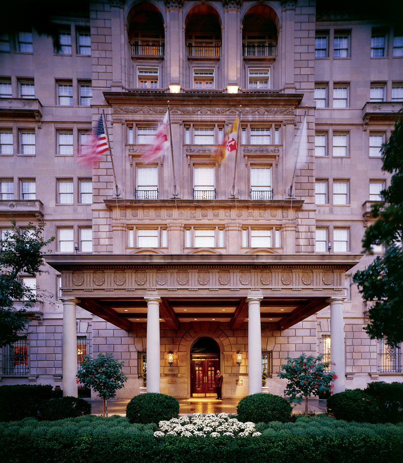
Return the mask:
<svg viewBox="0 0 403 463">
<path fill-rule="evenodd" d="M 76 418 L 90 413 L 91 404 L 84 399 L 76 399 L 71 396 L 49 400 L 39 410 L 40 418 L 47 421 Z"/>
</svg>

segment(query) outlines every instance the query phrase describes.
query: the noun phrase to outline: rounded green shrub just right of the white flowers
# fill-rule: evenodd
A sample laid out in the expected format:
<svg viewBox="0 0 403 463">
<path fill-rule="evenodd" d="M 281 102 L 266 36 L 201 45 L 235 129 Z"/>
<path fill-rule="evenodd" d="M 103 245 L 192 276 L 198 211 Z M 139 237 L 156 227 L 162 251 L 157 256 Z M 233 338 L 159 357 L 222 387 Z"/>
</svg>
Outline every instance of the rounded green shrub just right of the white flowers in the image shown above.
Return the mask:
<svg viewBox="0 0 403 463">
<path fill-rule="evenodd" d="M 236 411 L 239 421 L 243 422 L 284 422 L 291 419 L 292 407 L 283 397 L 257 393 L 241 399 Z"/>
</svg>

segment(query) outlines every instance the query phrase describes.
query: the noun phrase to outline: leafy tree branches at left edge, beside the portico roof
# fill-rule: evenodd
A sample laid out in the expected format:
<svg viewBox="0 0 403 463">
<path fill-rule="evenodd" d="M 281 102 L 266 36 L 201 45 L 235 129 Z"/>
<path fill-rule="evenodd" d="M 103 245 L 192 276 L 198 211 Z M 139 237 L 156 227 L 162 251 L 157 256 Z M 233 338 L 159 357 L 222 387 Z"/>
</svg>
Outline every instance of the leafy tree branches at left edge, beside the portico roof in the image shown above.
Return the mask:
<svg viewBox="0 0 403 463">
<path fill-rule="evenodd" d="M 28 320 L 23 316 L 32 307 L 38 296 L 25 286 L 21 273 L 37 275 L 43 273 L 43 248 L 54 240 L 45 240 L 42 233 L 45 223 L 20 229 L 15 222 L 12 229 L 0 240 L 0 347 L 17 341 L 17 332 L 22 331 Z M 15 301 L 24 301 L 23 309 L 15 309 Z"/>
</svg>

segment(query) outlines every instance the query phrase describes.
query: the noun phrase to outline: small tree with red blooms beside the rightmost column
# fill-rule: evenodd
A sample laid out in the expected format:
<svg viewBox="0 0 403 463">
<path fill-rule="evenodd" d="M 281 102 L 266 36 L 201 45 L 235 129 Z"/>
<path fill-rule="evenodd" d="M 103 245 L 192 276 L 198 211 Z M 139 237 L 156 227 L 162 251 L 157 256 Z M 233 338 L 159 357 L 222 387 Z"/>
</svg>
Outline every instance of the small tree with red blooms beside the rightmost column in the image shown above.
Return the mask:
<svg viewBox="0 0 403 463">
<path fill-rule="evenodd" d="M 298 359 L 286 357 L 285 360 L 287 363 L 281 365 L 284 371 L 276 372 L 278 377 L 288 379 L 284 395 L 297 404 L 305 397 L 305 414 L 308 415 L 308 397 L 317 396 L 333 388 L 331 382 L 337 376 L 333 372 L 325 371 L 331 362 L 323 362 L 320 356 L 314 358 L 302 354 Z"/>
</svg>

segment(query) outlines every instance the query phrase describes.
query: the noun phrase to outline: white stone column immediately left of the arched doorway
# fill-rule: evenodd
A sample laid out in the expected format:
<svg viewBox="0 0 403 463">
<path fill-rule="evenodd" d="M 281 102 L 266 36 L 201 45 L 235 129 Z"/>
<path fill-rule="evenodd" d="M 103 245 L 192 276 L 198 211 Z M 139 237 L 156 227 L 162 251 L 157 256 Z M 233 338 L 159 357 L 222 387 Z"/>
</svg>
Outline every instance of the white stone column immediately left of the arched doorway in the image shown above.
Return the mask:
<svg viewBox="0 0 403 463">
<path fill-rule="evenodd" d="M 144 298 L 147 302 L 147 392 L 160 392 L 160 302 L 161 298 Z"/>
</svg>

